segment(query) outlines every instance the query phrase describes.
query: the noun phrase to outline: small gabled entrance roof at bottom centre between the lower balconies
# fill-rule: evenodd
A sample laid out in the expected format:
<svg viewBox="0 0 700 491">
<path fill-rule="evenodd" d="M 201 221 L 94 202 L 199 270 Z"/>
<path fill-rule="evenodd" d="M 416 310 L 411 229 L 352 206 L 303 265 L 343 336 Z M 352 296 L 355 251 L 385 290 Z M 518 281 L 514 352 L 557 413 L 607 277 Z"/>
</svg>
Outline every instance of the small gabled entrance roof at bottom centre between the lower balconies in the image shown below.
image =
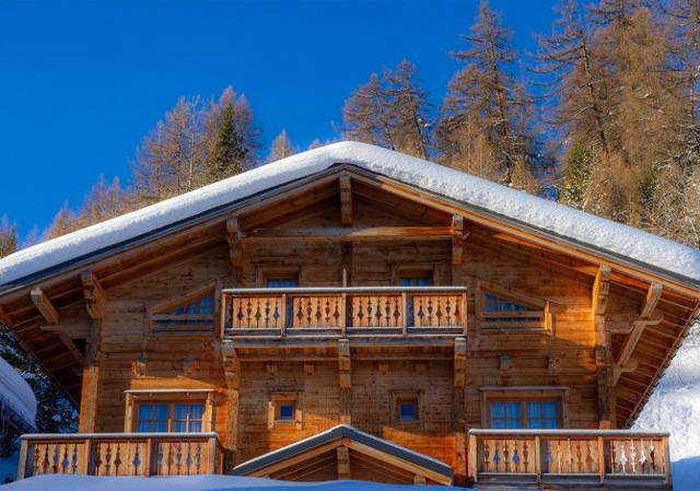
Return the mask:
<svg viewBox="0 0 700 491">
<path fill-rule="evenodd" d="M 240 464 L 233 474 L 290 481 L 452 484 L 448 465 L 348 424 Z"/>
</svg>

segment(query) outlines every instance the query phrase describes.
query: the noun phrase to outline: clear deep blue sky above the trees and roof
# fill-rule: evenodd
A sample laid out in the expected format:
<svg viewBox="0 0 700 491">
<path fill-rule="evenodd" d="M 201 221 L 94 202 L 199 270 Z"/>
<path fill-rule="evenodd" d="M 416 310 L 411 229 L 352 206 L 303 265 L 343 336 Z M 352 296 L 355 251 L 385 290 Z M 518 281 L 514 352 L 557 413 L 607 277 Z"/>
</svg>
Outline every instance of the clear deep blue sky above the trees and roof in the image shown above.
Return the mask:
<svg viewBox="0 0 700 491">
<path fill-rule="evenodd" d="M 553 0 L 491 0 L 533 51 Z M 439 105 L 477 0 L 0 0 L 0 215 L 21 235 L 129 175 L 141 137 L 180 95 L 244 93 L 266 145 L 332 139 L 343 101 L 402 58 Z"/>
</svg>

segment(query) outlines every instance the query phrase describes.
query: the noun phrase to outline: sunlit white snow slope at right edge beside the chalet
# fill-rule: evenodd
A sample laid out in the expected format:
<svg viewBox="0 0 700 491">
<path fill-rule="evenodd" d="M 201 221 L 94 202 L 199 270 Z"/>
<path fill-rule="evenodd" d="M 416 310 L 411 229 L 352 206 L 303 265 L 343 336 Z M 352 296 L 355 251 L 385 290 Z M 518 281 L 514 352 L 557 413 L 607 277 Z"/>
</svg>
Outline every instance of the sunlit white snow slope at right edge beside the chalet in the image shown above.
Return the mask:
<svg viewBox="0 0 700 491">
<path fill-rule="evenodd" d="M 700 490 L 700 336 L 682 344 L 634 429 L 669 431 L 674 489 Z"/>
</svg>

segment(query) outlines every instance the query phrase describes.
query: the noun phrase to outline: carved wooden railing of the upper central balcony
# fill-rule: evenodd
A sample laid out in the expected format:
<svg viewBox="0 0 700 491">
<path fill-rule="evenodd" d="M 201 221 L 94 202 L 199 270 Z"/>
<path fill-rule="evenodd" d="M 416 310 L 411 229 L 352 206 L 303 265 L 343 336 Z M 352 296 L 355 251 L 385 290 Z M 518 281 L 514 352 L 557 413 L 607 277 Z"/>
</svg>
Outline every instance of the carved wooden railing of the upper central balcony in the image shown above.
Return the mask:
<svg viewBox="0 0 700 491">
<path fill-rule="evenodd" d="M 463 287 L 289 288 L 223 291 L 228 335 L 465 332 Z"/>
</svg>

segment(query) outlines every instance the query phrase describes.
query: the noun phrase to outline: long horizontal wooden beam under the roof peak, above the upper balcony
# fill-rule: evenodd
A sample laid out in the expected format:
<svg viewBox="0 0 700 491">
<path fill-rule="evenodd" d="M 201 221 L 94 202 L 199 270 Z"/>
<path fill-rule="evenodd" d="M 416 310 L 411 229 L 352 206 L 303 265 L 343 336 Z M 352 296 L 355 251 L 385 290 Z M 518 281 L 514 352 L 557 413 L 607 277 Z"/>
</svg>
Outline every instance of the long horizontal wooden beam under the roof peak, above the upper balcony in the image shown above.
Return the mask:
<svg viewBox="0 0 700 491">
<path fill-rule="evenodd" d="M 452 226 L 375 226 L 375 227 L 304 227 L 254 229 L 245 235 L 245 242 L 268 241 L 390 241 L 413 238 L 436 241 L 452 238 Z"/>
</svg>

